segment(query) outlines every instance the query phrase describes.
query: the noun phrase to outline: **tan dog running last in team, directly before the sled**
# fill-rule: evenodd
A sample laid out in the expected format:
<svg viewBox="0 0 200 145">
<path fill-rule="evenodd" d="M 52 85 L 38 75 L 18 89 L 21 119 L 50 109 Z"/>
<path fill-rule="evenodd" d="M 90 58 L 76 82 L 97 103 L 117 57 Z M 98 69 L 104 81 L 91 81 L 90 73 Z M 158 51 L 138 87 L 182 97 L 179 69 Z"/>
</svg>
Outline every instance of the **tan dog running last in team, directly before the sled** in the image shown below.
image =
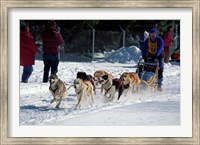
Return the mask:
<svg viewBox="0 0 200 145">
<path fill-rule="evenodd" d="M 140 78 L 137 73 L 135 72 L 124 72 L 121 76 L 120 79 L 122 79 L 124 83 L 124 88 L 128 89 L 128 91 L 133 91 L 133 86 L 136 85 L 136 90 L 139 92 L 139 86 L 140 86 Z M 126 95 L 127 95 L 126 92 Z"/>
</svg>

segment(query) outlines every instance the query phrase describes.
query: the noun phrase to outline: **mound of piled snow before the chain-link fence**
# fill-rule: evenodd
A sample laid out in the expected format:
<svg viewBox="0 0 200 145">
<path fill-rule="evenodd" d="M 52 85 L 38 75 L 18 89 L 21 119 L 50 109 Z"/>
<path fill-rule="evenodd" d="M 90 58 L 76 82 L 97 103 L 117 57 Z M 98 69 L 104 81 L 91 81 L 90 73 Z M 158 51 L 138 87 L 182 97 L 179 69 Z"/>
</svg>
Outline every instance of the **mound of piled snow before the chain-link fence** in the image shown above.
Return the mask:
<svg viewBox="0 0 200 145">
<path fill-rule="evenodd" d="M 111 63 L 137 63 L 141 57 L 141 50 L 136 46 L 120 48 L 105 58 Z"/>
</svg>

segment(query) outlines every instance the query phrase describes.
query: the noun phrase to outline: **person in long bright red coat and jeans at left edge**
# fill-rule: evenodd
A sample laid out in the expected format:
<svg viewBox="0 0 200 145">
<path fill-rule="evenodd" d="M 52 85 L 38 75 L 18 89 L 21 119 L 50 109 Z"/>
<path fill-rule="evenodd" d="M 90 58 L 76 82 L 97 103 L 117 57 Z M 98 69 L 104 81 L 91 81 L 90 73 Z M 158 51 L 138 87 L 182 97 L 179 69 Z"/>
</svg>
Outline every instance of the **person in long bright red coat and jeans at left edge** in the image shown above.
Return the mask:
<svg viewBox="0 0 200 145">
<path fill-rule="evenodd" d="M 20 66 L 23 66 L 22 82 L 28 83 L 28 79 L 33 72 L 35 64 L 35 55 L 37 53 L 37 45 L 34 38 L 30 34 L 27 24 L 20 27 Z"/>
</svg>

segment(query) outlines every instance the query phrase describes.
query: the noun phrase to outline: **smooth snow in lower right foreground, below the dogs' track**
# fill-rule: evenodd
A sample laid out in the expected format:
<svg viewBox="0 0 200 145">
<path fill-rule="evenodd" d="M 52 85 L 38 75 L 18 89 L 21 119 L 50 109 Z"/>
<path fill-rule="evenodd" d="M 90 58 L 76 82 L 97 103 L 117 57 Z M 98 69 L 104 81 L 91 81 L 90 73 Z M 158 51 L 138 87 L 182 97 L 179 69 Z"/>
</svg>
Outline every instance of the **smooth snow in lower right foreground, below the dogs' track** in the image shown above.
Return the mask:
<svg viewBox="0 0 200 145">
<path fill-rule="evenodd" d="M 66 126 L 151 126 L 177 125 L 180 123 L 179 102 L 143 102 L 122 105 L 100 111 L 90 111 L 50 125 Z M 170 108 L 170 109 L 169 109 Z M 162 111 L 158 111 L 162 110 Z M 173 111 L 173 113 L 172 113 Z M 122 115 L 123 114 L 123 115 Z M 129 117 L 127 117 L 129 116 Z M 145 116 L 145 117 L 144 117 Z M 174 118 L 177 118 L 176 121 Z M 81 123 L 79 121 L 81 121 Z M 157 121 L 155 121 L 157 120 Z M 148 122 L 148 124 L 147 124 Z M 159 122 L 159 123 L 158 123 Z"/>
</svg>

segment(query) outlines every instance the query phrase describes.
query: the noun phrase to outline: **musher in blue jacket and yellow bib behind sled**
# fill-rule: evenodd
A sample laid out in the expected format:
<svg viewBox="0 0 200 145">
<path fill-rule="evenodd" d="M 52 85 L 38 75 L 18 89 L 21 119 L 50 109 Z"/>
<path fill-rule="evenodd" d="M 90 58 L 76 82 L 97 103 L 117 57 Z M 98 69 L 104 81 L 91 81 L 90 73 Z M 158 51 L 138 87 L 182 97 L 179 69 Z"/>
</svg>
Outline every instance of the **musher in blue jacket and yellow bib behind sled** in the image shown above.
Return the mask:
<svg viewBox="0 0 200 145">
<path fill-rule="evenodd" d="M 163 82 L 163 70 L 164 70 L 164 55 L 163 48 L 164 42 L 161 37 L 158 37 L 158 31 L 155 28 L 150 30 L 150 37 L 144 42 L 142 49 L 142 57 L 145 61 L 150 61 L 157 59 L 159 62 L 158 70 L 158 90 L 162 91 Z"/>
</svg>

